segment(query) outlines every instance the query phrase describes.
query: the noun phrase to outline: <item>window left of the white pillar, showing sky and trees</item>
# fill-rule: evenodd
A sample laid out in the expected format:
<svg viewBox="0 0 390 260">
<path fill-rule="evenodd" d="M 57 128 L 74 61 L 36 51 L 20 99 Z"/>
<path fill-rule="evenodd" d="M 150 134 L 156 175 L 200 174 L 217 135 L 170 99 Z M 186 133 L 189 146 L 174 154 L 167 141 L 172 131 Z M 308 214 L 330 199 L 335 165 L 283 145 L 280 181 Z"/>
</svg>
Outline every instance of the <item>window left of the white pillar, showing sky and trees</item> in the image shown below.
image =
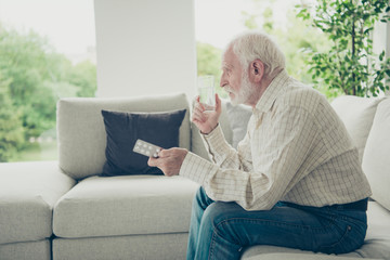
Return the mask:
<svg viewBox="0 0 390 260">
<path fill-rule="evenodd" d="M 0 0 L 0 161 L 57 158 L 56 102 L 96 91 L 93 0 Z"/>
</svg>

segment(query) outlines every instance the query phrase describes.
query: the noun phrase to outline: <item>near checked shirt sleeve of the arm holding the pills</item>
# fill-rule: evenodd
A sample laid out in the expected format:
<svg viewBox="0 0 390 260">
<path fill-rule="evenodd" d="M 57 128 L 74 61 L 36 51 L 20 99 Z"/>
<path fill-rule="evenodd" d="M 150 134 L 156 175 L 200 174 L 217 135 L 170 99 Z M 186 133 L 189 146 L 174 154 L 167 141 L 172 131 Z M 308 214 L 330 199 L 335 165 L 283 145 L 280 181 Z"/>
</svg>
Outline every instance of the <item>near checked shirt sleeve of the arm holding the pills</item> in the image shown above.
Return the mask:
<svg viewBox="0 0 390 260">
<path fill-rule="evenodd" d="M 214 200 L 236 202 L 247 210 L 270 209 L 309 173 L 302 166 L 317 140 L 316 128 L 302 108 L 278 112 L 272 123 L 251 139 L 261 145 L 252 154 L 251 171 L 222 169 L 188 153 L 180 176 L 199 183 Z"/>
</svg>

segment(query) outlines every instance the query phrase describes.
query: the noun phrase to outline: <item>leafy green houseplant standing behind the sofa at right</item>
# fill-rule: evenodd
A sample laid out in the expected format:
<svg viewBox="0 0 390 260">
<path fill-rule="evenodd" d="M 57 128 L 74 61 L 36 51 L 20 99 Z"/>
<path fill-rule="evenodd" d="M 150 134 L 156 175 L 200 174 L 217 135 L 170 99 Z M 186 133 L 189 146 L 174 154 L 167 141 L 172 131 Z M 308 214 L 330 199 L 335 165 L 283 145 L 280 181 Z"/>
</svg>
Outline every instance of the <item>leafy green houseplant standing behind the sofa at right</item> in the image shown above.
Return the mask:
<svg viewBox="0 0 390 260">
<path fill-rule="evenodd" d="M 328 51 L 308 48 L 309 72 L 317 83 L 344 94 L 377 96 L 388 90 L 390 58 L 373 52 L 372 31 L 377 21 L 387 22 L 388 0 L 318 0 L 314 12 L 297 5 L 298 17 L 309 21 L 330 40 Z"/>
</svg>

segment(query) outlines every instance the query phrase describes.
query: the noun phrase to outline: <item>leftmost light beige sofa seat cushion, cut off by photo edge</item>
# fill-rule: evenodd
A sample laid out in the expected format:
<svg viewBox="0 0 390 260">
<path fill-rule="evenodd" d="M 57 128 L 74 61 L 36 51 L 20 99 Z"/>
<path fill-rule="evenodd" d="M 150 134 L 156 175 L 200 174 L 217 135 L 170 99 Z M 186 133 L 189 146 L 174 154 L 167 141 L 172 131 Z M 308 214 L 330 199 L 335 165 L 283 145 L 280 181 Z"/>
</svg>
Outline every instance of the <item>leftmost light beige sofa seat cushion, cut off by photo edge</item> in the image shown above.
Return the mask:
<svg viewBox="0 0 390 260">
<path fill-rule="evenodd" d="M 0 244 L 52 235 L 52 209 L 75 181 L 57 161 L 0 164 Z"/>
</svg>

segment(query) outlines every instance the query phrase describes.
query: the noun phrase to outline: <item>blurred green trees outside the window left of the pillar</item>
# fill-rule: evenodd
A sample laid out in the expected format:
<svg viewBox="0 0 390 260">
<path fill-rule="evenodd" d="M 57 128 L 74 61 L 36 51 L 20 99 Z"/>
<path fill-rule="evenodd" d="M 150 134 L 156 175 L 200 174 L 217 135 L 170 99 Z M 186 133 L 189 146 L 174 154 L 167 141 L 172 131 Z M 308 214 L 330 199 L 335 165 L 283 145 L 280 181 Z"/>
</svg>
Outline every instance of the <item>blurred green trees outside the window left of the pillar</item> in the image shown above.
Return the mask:
<svg viewBox="0 0 390 260">
<path fill-rule="evenodd" d="M 96 68 L 89 62 L 73 65 L 48 39 L 1 24 L 0 57 L 0 161 L 5 161 L 26 148 L 30 138 L 55 128 L 60 98 L 94 96 Z"/>
</svg>

